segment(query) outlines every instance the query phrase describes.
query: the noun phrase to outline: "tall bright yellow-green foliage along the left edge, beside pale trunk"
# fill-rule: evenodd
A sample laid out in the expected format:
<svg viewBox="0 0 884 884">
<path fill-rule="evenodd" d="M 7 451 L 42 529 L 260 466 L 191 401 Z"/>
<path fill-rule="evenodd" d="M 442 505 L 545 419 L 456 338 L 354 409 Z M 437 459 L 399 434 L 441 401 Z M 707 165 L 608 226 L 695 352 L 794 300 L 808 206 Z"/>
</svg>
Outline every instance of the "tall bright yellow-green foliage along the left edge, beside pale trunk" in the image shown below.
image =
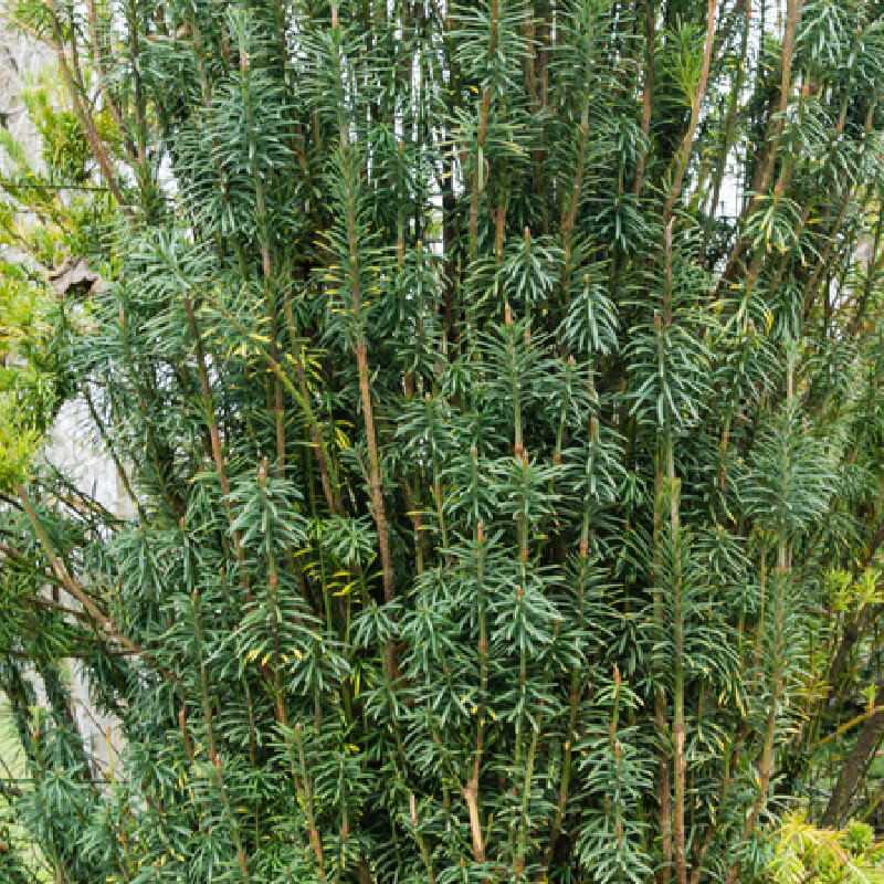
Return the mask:
<svg viewBox="0 0 884 884">
<path fill-rule="evenodd" d="M 48 276 L 67 257 L 91 255 L 94 232 L 114 211 L 103 196 L 76 189 L 91 183 L 94 160 L 57 72 L 48 69 L 22 98 L 40 136 L 42 165 L 0 129 L 7 168 L 0 246 L 11 256 L 0 262 L 0 490 L 25 477 L 59 401 L 51 350 L 60 302 Z M 95 125 L 113 149 L 113 120 L 98 114 Z"/>
</svg>

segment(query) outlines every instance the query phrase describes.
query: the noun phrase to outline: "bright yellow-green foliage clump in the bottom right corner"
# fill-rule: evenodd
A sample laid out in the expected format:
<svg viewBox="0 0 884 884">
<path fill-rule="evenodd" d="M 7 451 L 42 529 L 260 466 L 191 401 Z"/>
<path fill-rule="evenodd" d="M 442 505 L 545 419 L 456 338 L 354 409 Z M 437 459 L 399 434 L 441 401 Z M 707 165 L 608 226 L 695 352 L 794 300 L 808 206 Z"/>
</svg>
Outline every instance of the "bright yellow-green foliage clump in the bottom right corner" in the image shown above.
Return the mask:
<svg viewBox="0 0 884 884">
<path fill-rule="evenodd" d="M 777 833 L 769 873 L 771 884 L 884 884 L 884 846 L 866 823 L 817 829 L 791 813 Z"/>
</svg>

